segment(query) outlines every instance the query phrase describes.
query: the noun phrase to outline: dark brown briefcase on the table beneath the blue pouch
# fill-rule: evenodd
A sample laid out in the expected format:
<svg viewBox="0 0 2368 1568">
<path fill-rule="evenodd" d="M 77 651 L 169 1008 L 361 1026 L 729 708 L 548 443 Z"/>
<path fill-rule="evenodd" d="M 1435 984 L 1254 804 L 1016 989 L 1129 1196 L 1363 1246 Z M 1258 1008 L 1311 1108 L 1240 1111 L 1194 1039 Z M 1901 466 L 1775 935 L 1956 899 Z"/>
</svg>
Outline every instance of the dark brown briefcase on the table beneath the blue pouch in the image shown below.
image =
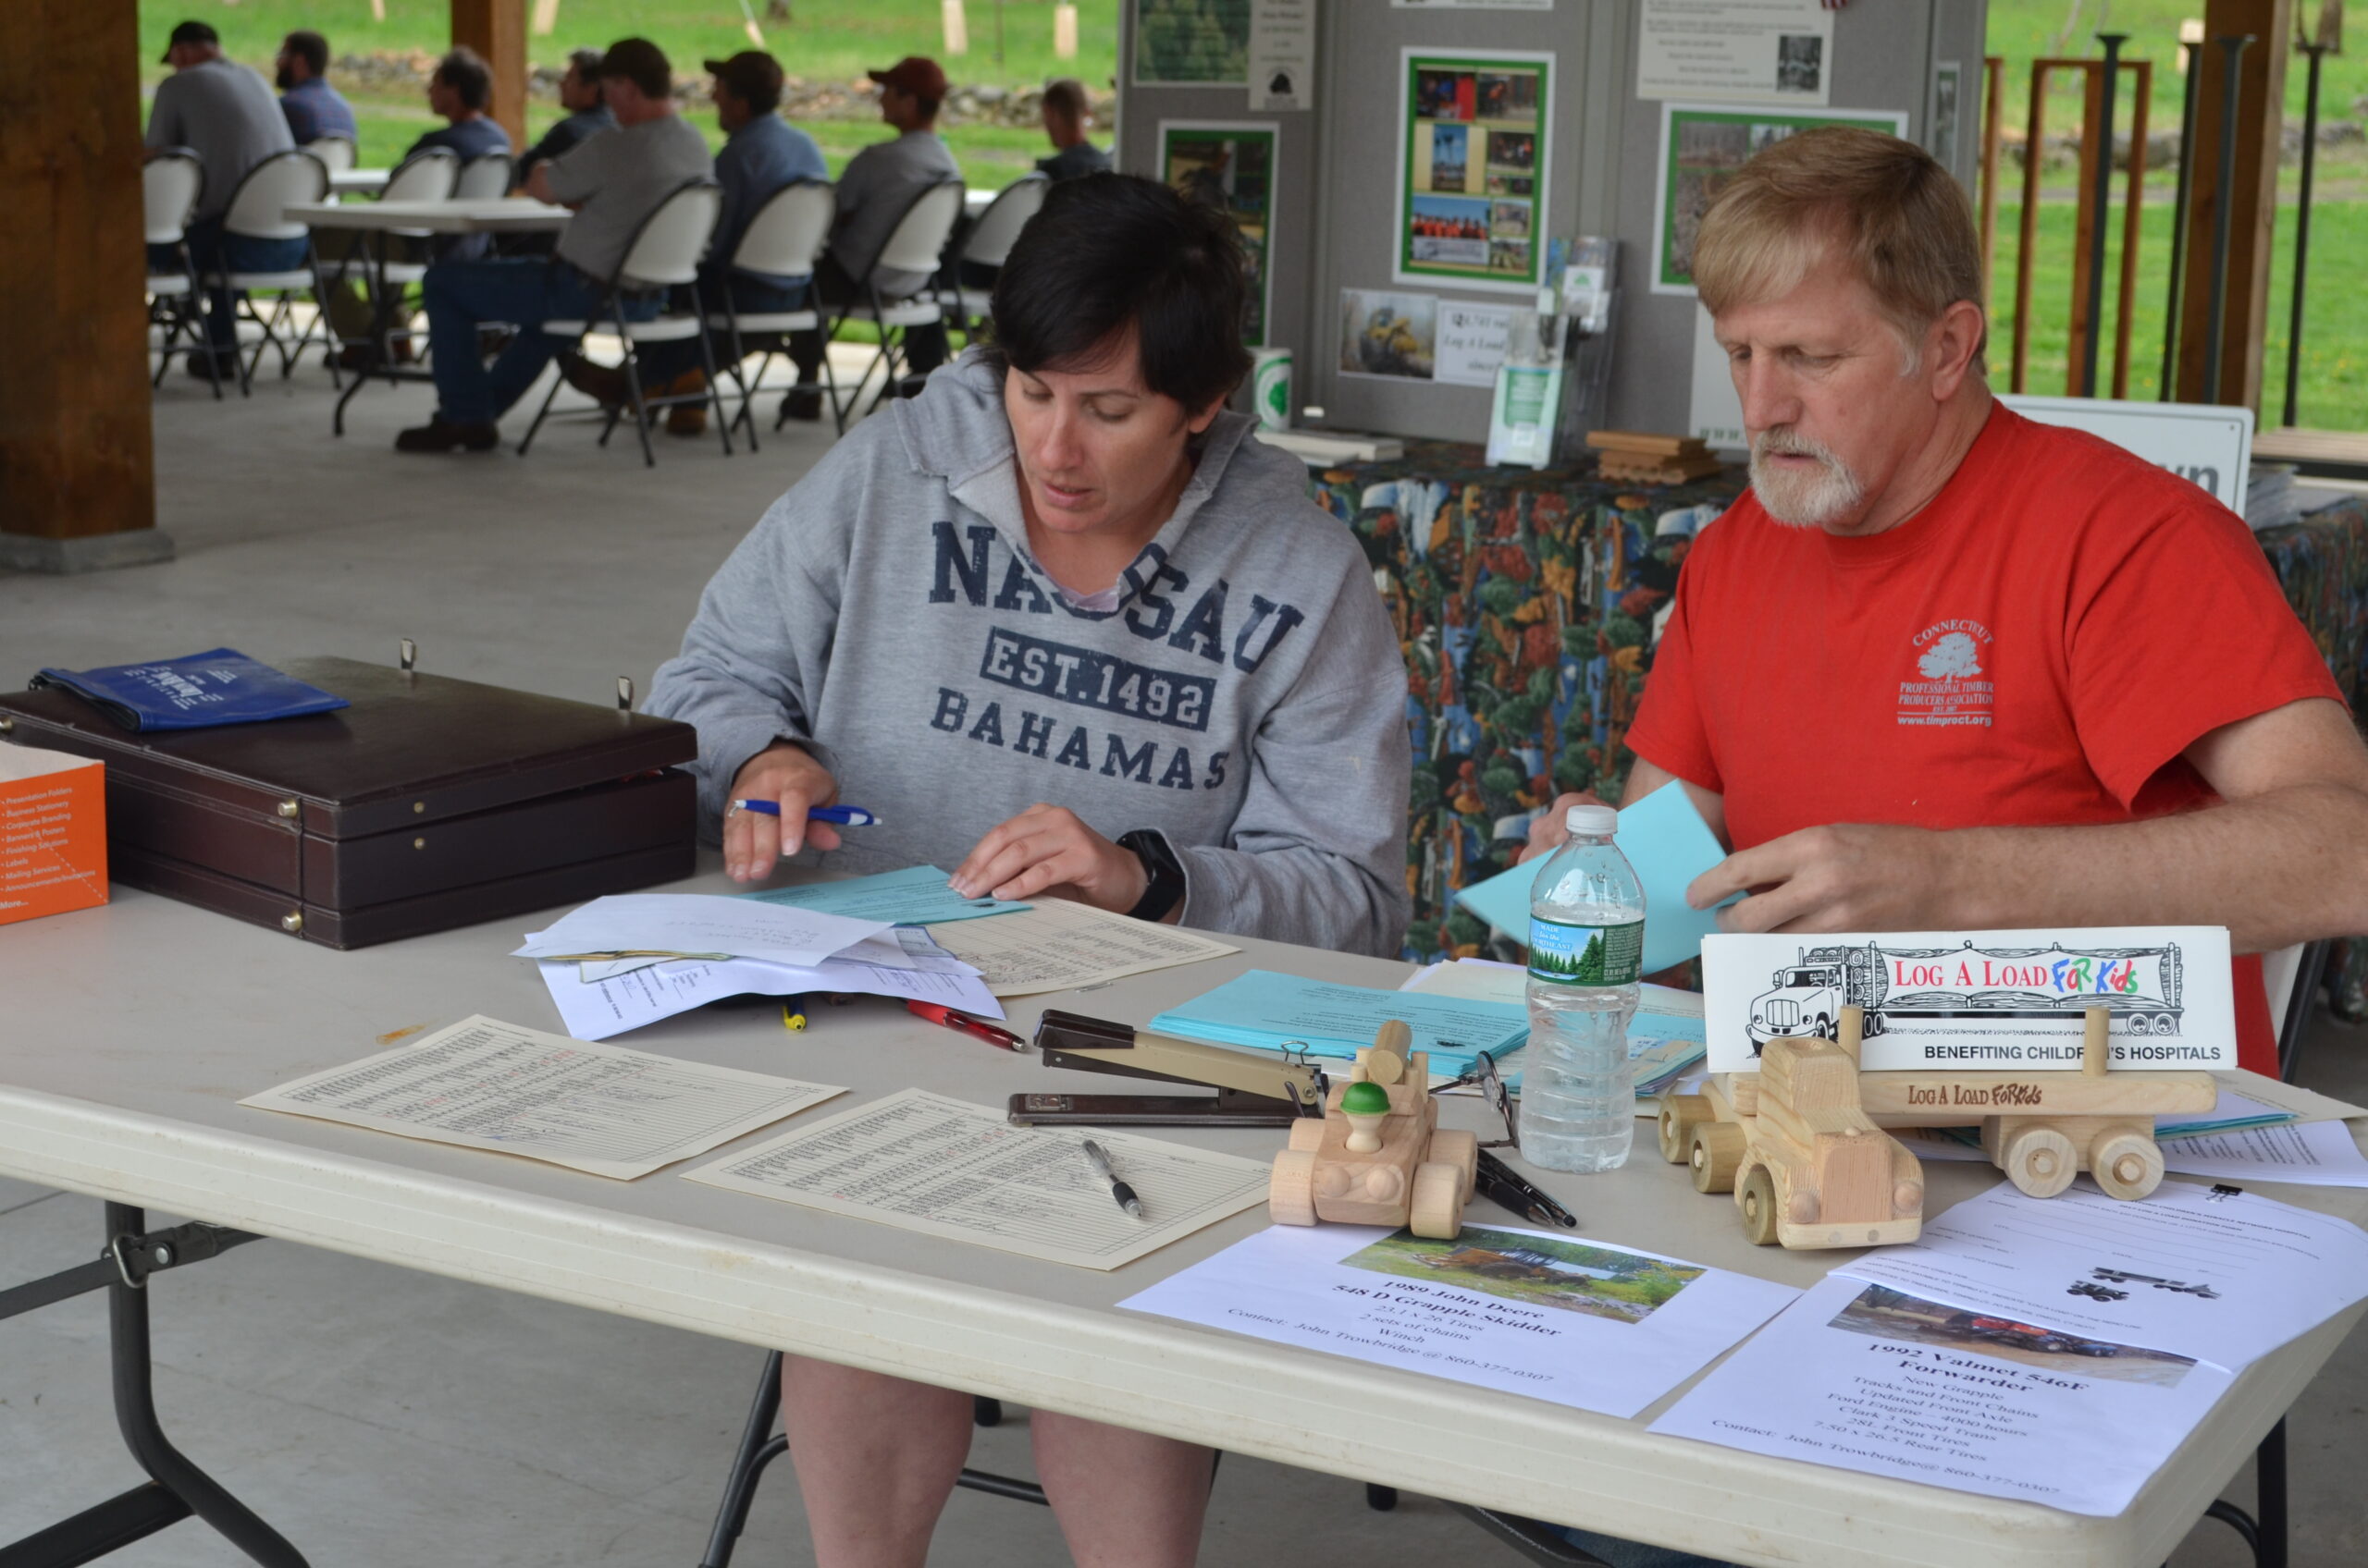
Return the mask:
<svg viewBox="0 0 2368 1568">
<path fill-rule="evenodd" d="M 116 881 L 367 947 L 691 874 L 675 720 L 350 658 L 291 658 L 336 713 L 130 732 L 71 692 L 0 734 L 107 763 Z"/>
</svg>

